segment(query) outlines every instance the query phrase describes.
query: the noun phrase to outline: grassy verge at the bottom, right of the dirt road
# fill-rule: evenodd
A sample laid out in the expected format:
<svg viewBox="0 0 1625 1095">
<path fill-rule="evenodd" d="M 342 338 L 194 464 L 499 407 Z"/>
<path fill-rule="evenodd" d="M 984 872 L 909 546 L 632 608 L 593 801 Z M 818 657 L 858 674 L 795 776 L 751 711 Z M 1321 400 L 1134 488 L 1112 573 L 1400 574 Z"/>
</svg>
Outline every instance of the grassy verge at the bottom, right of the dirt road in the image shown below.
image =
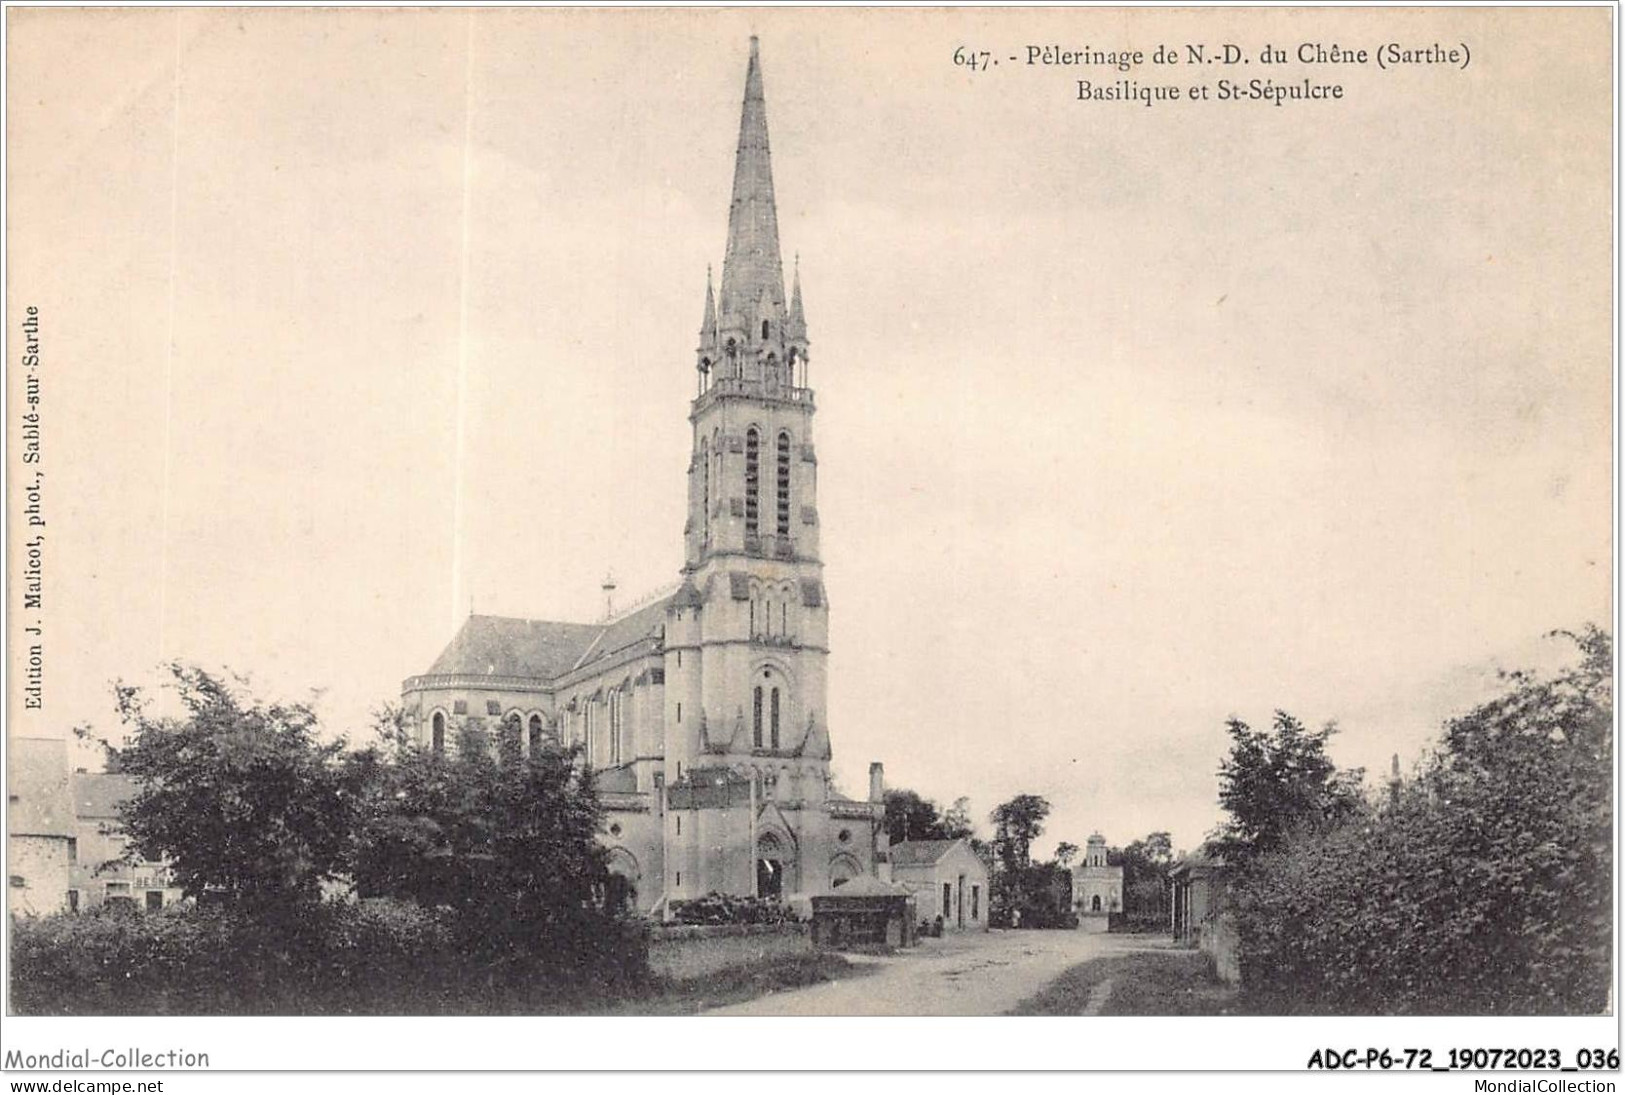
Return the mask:
<svg viewBox="0 0 1625 1095">
<path fill-rule="evenodd" d="M 1011 1015 L 1082 1015 L 1094 989 L 1110 978 L 1102 1015 L 1230 1015 L 1237 989 L 1212 975 L 1196 950 L 1154 950 L 1092 959 L 1050 981 Z"/>
</svg>

